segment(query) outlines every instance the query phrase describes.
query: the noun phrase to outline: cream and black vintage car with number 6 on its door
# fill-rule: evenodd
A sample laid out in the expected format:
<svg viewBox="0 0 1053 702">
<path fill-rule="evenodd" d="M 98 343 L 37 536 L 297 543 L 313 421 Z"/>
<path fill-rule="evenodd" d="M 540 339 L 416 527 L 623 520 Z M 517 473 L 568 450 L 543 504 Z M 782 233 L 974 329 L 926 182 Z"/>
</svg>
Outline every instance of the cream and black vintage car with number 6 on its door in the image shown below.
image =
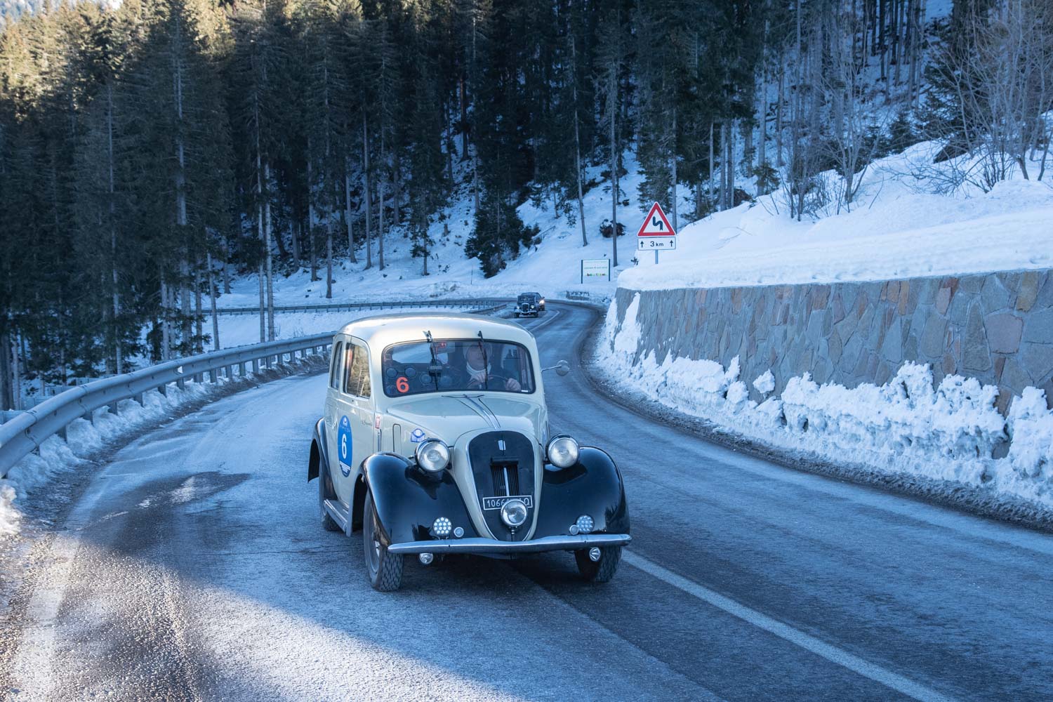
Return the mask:
<svg viewBox="0 0 1053 702">
<path fill-rule="evenodd" d="M 336 334 L 307 480 L 326 529 L 361 528 L 375 588 L 400 586 L 409 554 L 569 550 L 587 580 L 614 576 L 630 541 L 621 475 L 550 435 L 541 372 L 534 336 L 493 318 L 390 315 Z"/>
</svg>

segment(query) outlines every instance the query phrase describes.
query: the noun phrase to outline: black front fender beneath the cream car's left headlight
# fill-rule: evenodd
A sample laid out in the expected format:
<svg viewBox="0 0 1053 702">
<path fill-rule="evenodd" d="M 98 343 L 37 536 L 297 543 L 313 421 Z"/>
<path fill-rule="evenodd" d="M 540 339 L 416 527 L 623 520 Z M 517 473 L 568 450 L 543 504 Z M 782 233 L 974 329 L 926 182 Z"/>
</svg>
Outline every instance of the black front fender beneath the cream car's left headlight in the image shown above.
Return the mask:
<svg viewBox="0 0 1053 702">
<path fill-rule="evenodd" d="M 426 476 L 403 456 L 374 454 L 362 461 L 362 475 L 385 545 L 430 539 L 429 530 L 439 517 L 462 527 L 464 537 L 478 536 L 449 470 Z"/>
</svg>

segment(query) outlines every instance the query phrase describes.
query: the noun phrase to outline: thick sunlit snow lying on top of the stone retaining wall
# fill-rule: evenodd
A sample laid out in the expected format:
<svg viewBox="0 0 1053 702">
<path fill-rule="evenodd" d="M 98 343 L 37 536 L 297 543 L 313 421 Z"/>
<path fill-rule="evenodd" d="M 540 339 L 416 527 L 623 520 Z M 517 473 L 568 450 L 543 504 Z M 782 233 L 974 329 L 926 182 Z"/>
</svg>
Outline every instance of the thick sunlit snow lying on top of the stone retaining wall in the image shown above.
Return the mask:
<svg viewBox="0 0 1053 702">
<path fill-rule="evenodd" d="M 678 250 L 662 254 L 658 266 L 643 257 L 619 284 L 721 287 L 1053 266 L 1053 186 L 1009 180 L 986 194 L 934 195 L 927 192 L 934 184 L 914 175 L 931 167 L 934 151 L 926 142 L 876 162 L 851 212 L 796 222 L 776 193 L 694 222 L 681 229 Z"/>
</svg>

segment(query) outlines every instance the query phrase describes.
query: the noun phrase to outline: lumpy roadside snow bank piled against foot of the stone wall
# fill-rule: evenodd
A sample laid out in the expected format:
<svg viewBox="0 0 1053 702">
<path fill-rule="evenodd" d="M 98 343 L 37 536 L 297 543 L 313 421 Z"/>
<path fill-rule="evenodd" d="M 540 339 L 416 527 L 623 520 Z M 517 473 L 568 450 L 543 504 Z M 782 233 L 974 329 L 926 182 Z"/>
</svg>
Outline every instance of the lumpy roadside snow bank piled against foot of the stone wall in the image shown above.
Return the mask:
<svg viewBox="0 0 1053 702">
<path fill-rule="evenodd" d="M 819 385 L 804 374 L 758 404 L 739 379 L 737 357 L 728 368 L 671 356 L 659 362 L 650 353 L 636 358 L 638 309 L 636 295 L 618 325 L 612 305 L 597 349 L 597 362 L 627 389 L 795 456 L 838 465 L 851 456 L 872 472 L 982 487 L 1053 507 L 1053 412 L 1040 389 L 1027 388 L 1005 418 L 994 406 L 997 387 L 961 376 L 934 387 L 928 365 L 907 362 L 881 386 Z M 771 373 L 754 386 L 771 393 Z M 993 458 L 1010 439 L 1008 455 Z"/>
</svg>

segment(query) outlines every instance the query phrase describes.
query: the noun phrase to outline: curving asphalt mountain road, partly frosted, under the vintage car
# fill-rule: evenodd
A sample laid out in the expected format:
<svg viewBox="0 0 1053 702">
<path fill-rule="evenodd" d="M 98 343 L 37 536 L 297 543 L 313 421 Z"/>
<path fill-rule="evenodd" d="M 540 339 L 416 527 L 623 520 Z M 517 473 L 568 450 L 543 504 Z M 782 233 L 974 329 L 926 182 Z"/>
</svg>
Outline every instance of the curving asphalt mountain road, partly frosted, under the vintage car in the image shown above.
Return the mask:
<svg viewBox="0 0 1053 702">
<path fill-rule="evenodd" d="M 535 329 L 554 430 L 605 448 L 633 544 L 607 585 L 568 554 L 408 563 L 304 481 L 324 378 L 219 400 L 117 453 L 47 545 L 14 700 L 1053 699 L 1053 537 L 787 469 L 596 395 L 594 313 Z M 357 534 L 356 534 L 357 537 Z"/>
</svg>

